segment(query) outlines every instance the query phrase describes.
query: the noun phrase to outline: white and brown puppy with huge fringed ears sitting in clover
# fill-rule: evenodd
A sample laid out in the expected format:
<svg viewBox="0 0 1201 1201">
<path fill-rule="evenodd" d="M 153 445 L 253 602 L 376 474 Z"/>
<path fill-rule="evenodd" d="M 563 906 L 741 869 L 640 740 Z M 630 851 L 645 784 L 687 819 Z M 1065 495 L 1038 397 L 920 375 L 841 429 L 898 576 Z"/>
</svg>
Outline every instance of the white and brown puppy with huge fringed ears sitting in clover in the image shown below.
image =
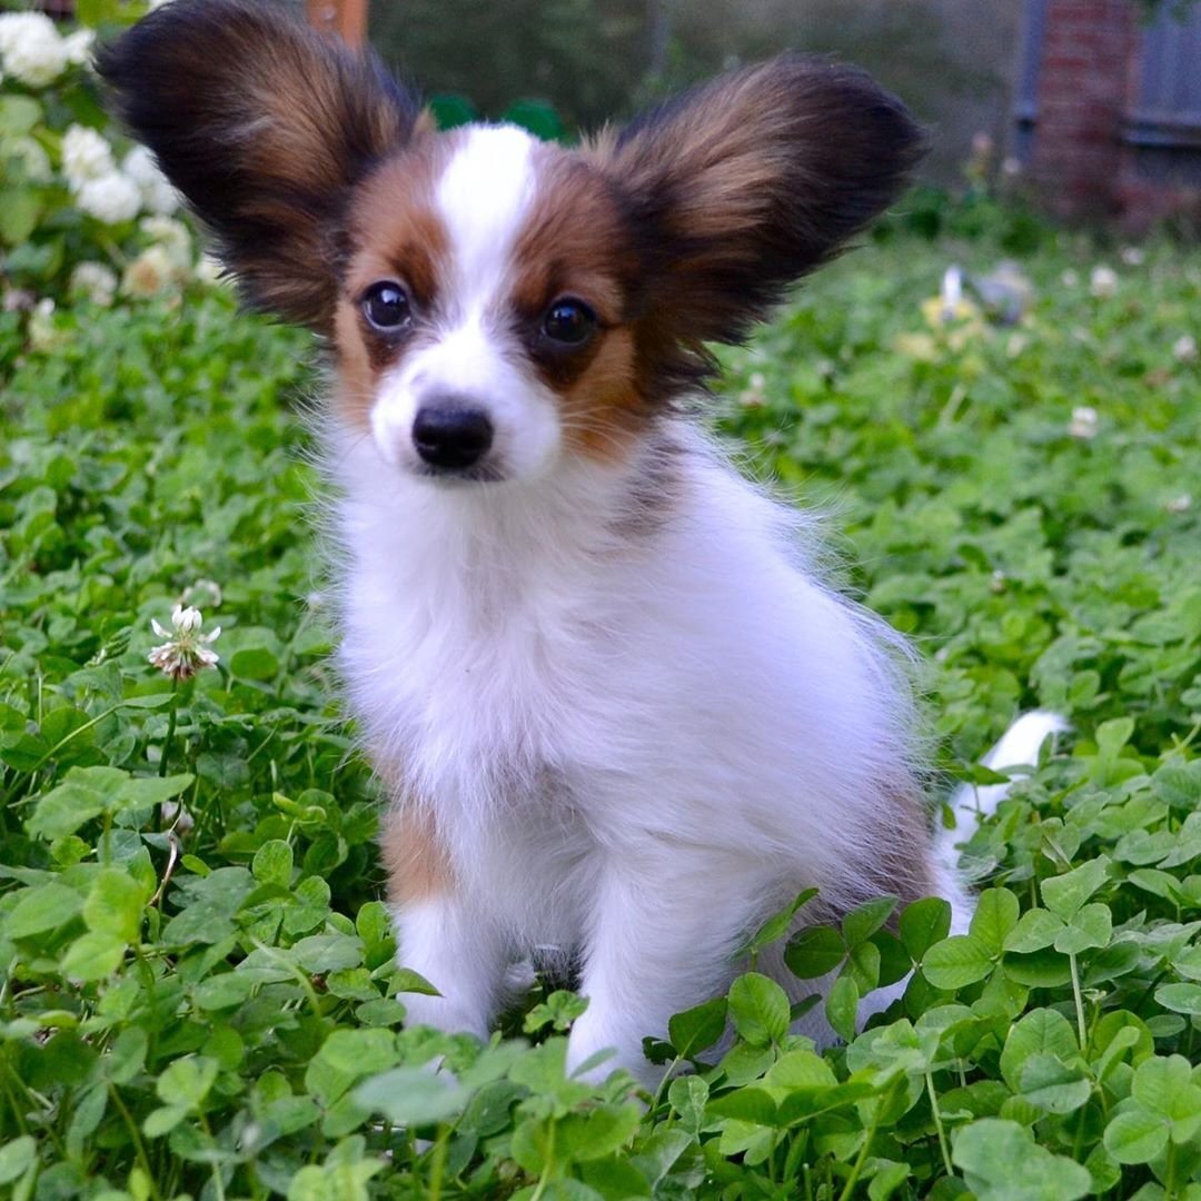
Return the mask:
<svg viewBox="0 0 1201 1201">
<path fill-rule="evenodd" d="M 98 71 L 250 305 L 329 349 L 339 663 L 400 954 L 438 990 L 410 1021 L 486 1036 L 510 964 L 561 948 L 569 1066 L 653 1082 L 644 1036 L 802 889 L 806 920 L 939 895 L 966 928 L 901 639 L 689 416 L 709 343 L 903 187 L 896 98 L 788 53 L 576 148 L 437 132 L 251 0 L 173 0 Z M 1002 760 L 1053 728 L 1028 715 Z"/>
</svg>

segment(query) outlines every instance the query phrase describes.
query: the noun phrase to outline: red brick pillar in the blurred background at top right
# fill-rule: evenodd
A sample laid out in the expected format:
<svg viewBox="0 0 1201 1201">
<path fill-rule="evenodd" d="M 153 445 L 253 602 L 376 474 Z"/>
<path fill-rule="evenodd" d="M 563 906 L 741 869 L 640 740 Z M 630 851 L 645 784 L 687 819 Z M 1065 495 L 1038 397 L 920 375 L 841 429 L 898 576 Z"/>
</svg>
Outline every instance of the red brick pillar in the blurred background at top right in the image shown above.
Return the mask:
<svg viewBox="0 0 1201 1201">
<path fill-rule="evenodd" d="M 1060 216 L 1118 214 L 1137 38 L 1130 0 L 1048 0 L 1030 173 Z"/>
</svg>

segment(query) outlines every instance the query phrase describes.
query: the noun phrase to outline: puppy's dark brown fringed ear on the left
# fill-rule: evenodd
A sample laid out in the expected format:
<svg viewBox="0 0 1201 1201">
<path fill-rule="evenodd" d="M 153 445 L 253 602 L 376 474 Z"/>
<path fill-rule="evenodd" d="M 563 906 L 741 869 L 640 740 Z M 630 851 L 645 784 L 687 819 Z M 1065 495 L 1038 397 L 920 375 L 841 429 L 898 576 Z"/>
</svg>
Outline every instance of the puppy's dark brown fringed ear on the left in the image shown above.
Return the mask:
<svg viewBox="0 0 1201 1201">
<path fill-rule="evenodd" d="M 172 0 L 101 50 L 97 70 L 249 301 L 327 329 L 348 191 L 411 137 L 417 97 L 255 0 Z"/>
</svg>

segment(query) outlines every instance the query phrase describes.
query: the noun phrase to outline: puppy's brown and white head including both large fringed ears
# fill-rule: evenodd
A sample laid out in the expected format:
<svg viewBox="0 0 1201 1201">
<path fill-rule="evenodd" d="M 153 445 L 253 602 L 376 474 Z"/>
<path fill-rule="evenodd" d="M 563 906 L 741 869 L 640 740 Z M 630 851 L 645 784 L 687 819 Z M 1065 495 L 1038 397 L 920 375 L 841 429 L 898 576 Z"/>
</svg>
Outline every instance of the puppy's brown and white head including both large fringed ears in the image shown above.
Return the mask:
<svg viewBox="0 0 1201 1201">
<path fill-rule="evenodd" d="M 866 76 L 791 54 L 576 149 L 438 133 L 253 0 L 174 0 L 98 66 L 246 298 L 328 337 L 345 418 L 438 480 L 620 458 L 921 149 Z"/>
</svg>

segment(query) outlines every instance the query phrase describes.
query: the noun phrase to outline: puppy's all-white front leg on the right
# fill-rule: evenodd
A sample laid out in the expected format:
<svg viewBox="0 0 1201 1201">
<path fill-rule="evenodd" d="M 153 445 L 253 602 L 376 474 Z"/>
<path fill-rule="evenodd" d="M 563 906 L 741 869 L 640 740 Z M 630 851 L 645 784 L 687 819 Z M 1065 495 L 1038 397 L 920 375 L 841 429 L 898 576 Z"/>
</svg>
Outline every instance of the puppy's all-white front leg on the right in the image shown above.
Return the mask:
<svg viewBox="0 0 1201 1201">
<path fill-rule="evenodd" d="M 653 1087 L 662 1071 L 643 1054 L 643 1039 L 665 1036 L 674 1014 L 725 990 L 764 896 L 761 872 L 733 856 L 673 848 L 663 861 L 611 865 L 585 946 L 580 991 L 588 1008 L 572 1030 L 569 1070 L 615 1048 L 588 1075 L 621 1066 Z"/>
</svg>

